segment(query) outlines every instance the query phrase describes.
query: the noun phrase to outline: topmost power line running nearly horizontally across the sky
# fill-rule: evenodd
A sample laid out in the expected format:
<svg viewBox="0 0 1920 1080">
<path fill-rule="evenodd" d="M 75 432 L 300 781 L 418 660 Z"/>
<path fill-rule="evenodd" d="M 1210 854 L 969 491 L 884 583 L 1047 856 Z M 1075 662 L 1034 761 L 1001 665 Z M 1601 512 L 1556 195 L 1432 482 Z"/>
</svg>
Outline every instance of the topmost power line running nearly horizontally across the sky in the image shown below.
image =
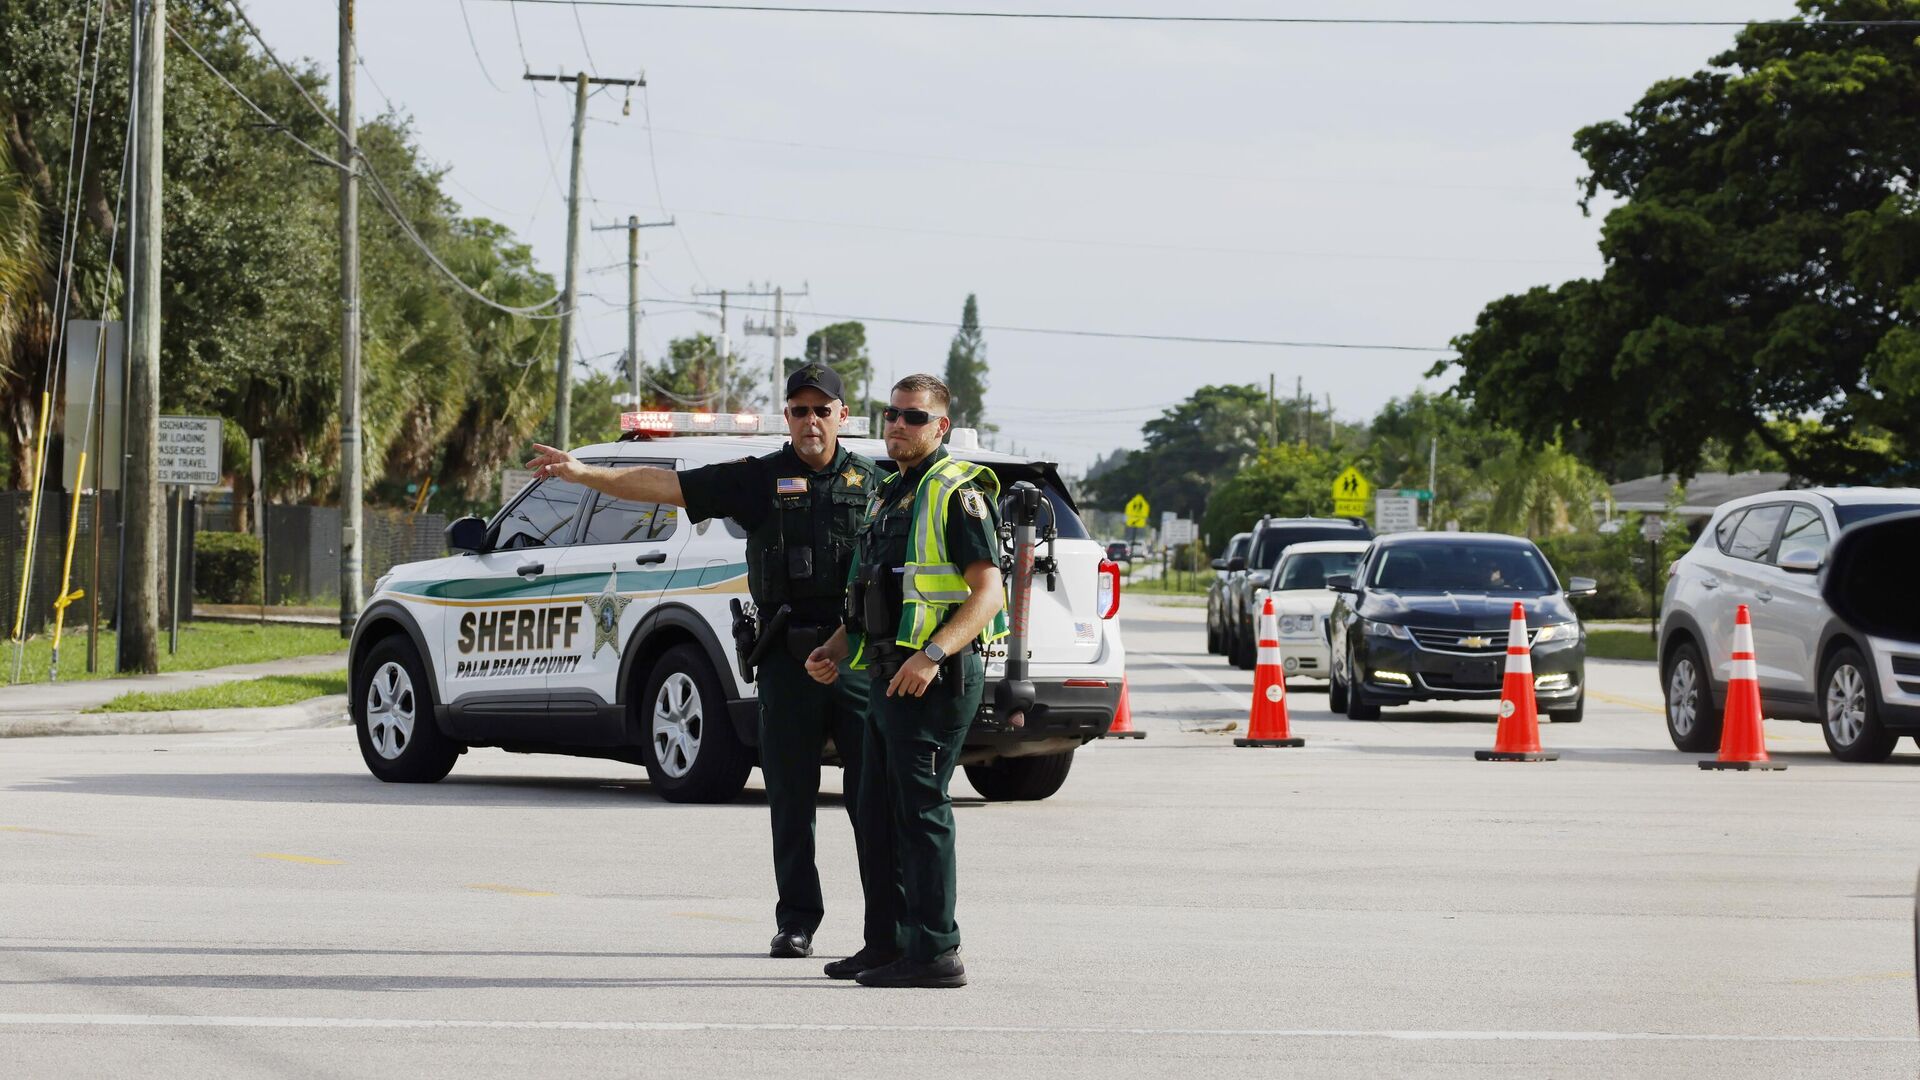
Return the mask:
<svg viewBox="0 0 1920 1080">
<path fill-rule="evenodd" d="M 1920 19 L 1354 19 L 1308 15 L 1135 15 L 1123 12 L 970 12 L 910 8 L 820 8 L 776 4 L 707 4 L 672 0 L 482 0 L 490 4 L 570 4 L 593 8 L 651 8 L 664 12 L 751 12 L 781 15 L 906 15 L 925 19 L 1010 19 L 1052 23 L 1202 23 L 1277 27 L 1920 27 Z"/>
</svg>

